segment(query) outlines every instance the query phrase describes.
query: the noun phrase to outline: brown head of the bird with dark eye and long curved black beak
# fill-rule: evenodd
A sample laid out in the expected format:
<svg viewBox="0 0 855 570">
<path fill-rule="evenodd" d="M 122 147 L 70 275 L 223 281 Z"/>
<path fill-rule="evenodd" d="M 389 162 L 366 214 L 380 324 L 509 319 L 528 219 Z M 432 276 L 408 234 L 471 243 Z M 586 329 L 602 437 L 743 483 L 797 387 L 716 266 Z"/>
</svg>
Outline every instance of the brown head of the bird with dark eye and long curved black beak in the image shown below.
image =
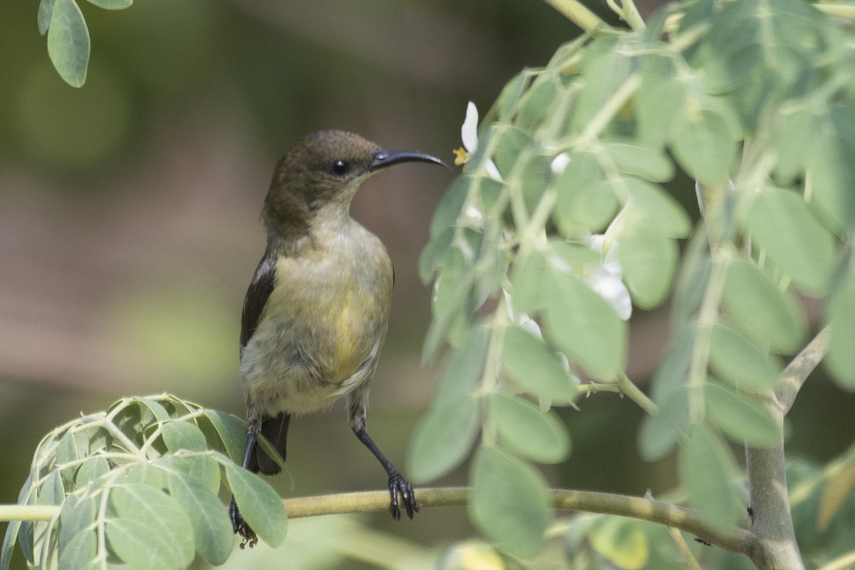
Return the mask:
<svg viewBox="0 0 855 570">
<path fill-rule="evenodd" d="M 384 150 L 357 134 L 320 131 L 301 138 L 276 165 L 265 201 L 268 225 L 282 233 L 308 228 L 325 207 L 345 212 L 359 186 L 400 162 L 445 163 L 410 150 Z"/>
</svg>

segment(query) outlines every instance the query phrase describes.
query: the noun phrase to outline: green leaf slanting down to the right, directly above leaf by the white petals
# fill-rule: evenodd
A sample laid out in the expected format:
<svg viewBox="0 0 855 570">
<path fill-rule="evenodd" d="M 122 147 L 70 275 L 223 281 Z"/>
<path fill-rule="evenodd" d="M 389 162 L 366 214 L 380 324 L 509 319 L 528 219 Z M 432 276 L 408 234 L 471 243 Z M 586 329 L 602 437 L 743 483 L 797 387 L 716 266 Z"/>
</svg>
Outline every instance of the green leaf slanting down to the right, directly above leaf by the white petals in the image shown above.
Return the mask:
<svg viewBox="0 0 855 570">
<path fill-rule="evenodd" d="M 686 210 L 662 186 L 631 176 L 623 184 L 631 215 L 640 216 L 650 229 L 669 238 L 685 238 L 692 231 Z"/>
</svg>

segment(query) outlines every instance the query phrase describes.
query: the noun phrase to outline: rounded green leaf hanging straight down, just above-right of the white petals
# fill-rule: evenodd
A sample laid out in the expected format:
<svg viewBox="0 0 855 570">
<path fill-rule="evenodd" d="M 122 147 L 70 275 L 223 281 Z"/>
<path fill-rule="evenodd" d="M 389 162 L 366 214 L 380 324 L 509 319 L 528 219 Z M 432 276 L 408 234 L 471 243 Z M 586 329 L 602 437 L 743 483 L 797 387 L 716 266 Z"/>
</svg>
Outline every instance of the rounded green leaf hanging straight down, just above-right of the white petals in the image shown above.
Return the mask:
<svg viewBox="0 0 855 570">
<path fill-rule="evenodd" d="M 662 303 L 671 289 L 677 244 L 649 224 L 628 224 L 618 238 L 617 258 L 633 302 L 641 309 Z"/>
</svg>

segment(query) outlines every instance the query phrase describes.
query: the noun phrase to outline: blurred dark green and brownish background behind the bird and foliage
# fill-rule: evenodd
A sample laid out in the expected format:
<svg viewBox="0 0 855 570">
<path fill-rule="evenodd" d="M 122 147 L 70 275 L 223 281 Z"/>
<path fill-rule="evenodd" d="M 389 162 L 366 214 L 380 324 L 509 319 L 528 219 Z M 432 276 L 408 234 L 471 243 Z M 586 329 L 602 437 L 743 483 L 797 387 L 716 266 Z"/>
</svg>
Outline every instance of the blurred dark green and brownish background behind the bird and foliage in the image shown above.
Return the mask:
<svg viewBox="0 0 855 570">
<path fill-rule="evenodd" d="M 657 3 L 638 4 L 649 14 Z M 546 3 L 515 0 L 145 0 L 119 12 L 84 2 L 92 54 L 78 90 L 52 68 L 37 8 L 7 3 L 0 18 L 2 503 L 15 502 L 45 432 L 119 397 L 168 391 L 243 416 L 241 303 L 264 247 L 262 200 L 296 138 L 342 128 L 451 162 L 467 101 L 486 111 L 513 73 L 579 33 Z M 396 267 L 369 431 L 402 468 L 440 370 L 420 365 L 430 288 L 416 260 L 452 175 L 392 169 L 353 203 Z M 665 311 L 634 315 L 628 373 L 641 385 L 668 326 Z M 809 382 L 791 449 L 839 453 L 855 436 L 853 406 Z M 580 408 L 563 410 L 574 453 L 547 473 L 555 485 L 675 485 L 671 461 L 640 462 L 631 402 L 603 394 Z M 340 404 L 293 423 L 290 446 L 293 488 L 274 480 L 284 496 L 385 486 Z M 439 483 L 464 481 L 459 470 Z M 431 549 L 471 532 L 462 510 L 387 519 L 364 518 Z"/>
</svg>

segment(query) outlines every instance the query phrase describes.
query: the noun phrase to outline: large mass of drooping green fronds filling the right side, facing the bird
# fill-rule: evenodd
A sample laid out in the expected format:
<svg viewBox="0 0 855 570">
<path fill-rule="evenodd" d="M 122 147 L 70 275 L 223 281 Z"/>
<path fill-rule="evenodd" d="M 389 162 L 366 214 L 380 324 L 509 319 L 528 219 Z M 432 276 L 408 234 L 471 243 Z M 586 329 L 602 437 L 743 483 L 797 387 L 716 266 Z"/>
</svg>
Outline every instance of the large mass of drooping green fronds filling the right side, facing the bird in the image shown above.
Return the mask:
<svg viewBox="0 0 855 570">
<path fill-rule="evenodd" d="M 511 79 L 420 259 L 435 278 L 424 358 L 452 353 L 413 438 L 414 476 L 440 477 L 474 450 L 475 525 L 516 555 L 537 552 L 548 517 L 528 461 L 569 453 L 545 410 L 574 403 L 580 377 L 588 392 L 632 393 L 627 321 L 598 288 L 612 267 L 636 308 L 673 293 L 642 455 L 678 449 L 693 507 L 722 531 L 744 520 L 727 440 L 781 444 L 782 356 L 809 336 L 799 295 L 825 303 L 828 369 L 855 385 L 853 46 L 801 0 L 696 0 Z M 521 498 L 498 497 L 508 485 Z"/>
</svg>

